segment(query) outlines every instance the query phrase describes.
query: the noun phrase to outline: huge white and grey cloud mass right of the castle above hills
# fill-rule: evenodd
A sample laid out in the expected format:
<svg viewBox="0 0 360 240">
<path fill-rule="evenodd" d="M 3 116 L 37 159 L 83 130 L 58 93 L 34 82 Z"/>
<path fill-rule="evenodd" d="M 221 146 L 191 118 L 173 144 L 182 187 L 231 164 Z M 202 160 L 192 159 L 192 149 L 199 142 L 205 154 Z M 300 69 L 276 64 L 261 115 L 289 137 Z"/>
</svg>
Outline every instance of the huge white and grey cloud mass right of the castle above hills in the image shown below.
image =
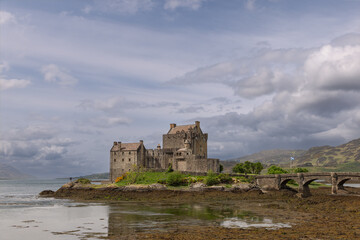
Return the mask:
<svg viewBox="0 0 360 240">
<path fill-rule="evenodd" d="M 201 118 L 209 155 L 340 144 L 360 136 L 360 34 L 312 49 L 267 49 L 172 80 L 218 83 L 258 103 L 248 111 Z M 221 154 L 215 149 L 222 148 Z M 231 156 L 231 157 L 230 157 Z"/>
</svg>

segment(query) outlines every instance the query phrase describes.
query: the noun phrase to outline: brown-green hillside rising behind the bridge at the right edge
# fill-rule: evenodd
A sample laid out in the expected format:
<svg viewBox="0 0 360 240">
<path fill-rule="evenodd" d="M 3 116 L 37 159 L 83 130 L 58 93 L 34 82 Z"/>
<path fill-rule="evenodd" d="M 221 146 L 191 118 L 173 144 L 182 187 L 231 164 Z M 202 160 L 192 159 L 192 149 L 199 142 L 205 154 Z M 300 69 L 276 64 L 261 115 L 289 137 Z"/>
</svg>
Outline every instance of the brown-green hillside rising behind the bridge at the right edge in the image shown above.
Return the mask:
<svg viewBox="0 0 360 240">
<path fill-rule="evenodd" d="M 295 159 L 297 166 L 336 167 L 347 163 L 360 163 L 360 139 L 336 147 L 313 147 Z"/>
</svg>

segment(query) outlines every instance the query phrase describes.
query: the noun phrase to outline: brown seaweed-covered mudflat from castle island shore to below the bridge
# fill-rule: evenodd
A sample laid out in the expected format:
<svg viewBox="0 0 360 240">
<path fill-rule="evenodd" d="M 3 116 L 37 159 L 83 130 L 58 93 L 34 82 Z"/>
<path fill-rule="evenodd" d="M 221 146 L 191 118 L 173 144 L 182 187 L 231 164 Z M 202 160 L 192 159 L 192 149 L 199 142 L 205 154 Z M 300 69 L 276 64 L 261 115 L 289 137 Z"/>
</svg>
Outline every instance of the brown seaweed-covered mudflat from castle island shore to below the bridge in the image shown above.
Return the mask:
<svg viewBox="0 0 360 240">
<path fill-rule="evenodd" d="M 290 191 L 262 193 L 258 189 L 156 190 L 63 188 L 55 197 L 90 201 L 227 201 L 255 203 L 265 216 L 291 227 L 226 227 L 178 225 L 166 231 L 111 234 L 108 239 L 360 239 L 360 189 L 353 194 L 331 195 L 330 188 L 311 189 L 298 198 Z M 359 194 L 359 195 L 358 195 Z"/>
</svg>

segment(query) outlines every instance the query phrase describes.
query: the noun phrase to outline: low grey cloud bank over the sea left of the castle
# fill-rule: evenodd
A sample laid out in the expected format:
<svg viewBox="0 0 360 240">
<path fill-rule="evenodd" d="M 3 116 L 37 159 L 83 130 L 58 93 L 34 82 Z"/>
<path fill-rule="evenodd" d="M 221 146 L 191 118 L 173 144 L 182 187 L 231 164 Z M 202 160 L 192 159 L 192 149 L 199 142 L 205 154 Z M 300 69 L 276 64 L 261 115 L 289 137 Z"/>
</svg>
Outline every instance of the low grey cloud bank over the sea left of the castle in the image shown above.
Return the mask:
<svg viewBox="0 0 360 240">
<path fill-rule="evenodd" d="M 56 177 L 79 172 L 87 159 L 77 155 L 80 143 L 57 128 L 29 125 L 3 131 L 0 140 L 0 159 L 26 173 Z M 76 146 L 76 147 L 74 147 Z"/>
</svg>

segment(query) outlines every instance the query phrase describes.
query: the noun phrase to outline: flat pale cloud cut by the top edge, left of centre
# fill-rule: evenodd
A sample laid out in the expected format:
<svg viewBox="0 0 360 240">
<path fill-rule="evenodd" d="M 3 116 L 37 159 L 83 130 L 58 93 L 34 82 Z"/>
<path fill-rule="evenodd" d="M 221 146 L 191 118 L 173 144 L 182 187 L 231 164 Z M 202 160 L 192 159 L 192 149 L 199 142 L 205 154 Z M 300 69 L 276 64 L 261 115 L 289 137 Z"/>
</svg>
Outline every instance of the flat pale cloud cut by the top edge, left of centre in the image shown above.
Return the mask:
<svg viewBox="0 0 360 240">
<path fill-rule="evenodd" d="M 94 6 L 87 5 L 83 11 L 112 12 L 119 14 L 136 14 L 140 11 L 150 11 L 154 6 L 152 0 L 95 0 Z"/>
</svg>

